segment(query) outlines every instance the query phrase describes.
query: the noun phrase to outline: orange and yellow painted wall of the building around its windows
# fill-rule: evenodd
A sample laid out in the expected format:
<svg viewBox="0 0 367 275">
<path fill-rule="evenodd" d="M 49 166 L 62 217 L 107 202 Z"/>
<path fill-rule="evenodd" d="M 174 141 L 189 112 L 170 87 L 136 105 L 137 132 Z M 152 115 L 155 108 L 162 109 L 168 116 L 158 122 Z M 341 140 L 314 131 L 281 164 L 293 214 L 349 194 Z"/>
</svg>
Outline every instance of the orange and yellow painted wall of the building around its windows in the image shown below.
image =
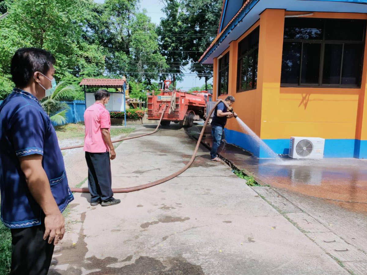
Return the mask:
<svg viewBox="0 0 367 275">
<path fill-rule="evenodd" d="M 265 10 L 260 20 L 223 52 L 222 55 L 230 51 L 228 95 L 236 98 L 235 111 L 264 140 L 290 136 L 367 140 L 367 43 L 361 88 L 280 87 L 284 17 L 305 13 Z M 312 17 L 367 19 L 366 14 L 331 12 L 307 16 Z M 238 43 L 257 26 L 260 26 L 257 89 L 236 93 Z M 215 65 L 216 87 L 217 68 Z M 226 128 L 243 132 L 235 120 L 229 120 Z"/>
</svg>

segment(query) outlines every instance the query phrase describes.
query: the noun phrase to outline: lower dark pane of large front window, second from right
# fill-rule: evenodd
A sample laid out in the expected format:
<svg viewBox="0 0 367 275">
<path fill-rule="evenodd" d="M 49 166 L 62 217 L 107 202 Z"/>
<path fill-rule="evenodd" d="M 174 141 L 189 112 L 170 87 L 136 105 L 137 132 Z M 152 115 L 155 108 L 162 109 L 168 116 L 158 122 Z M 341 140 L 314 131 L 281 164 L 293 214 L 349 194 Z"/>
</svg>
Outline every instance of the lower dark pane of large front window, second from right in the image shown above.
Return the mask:
<svg viewBox="0 0 367 275">
<path fill-rule="evenodd" d="M 342 44 L 325 44 L 323 84 L 339 84 L 342 52 Z"/>
</svg>

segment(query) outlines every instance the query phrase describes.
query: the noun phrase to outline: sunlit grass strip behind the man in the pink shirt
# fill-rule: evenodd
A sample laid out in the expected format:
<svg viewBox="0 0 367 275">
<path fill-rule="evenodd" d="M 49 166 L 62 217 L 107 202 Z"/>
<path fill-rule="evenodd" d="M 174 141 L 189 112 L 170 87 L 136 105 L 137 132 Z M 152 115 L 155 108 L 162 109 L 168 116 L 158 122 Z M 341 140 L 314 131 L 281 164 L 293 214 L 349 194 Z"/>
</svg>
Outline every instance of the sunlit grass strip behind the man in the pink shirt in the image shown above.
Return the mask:
<svg viewBox="0 0 367 275">
<path fill-rule="evenodd" d="M 82 122 L 77 124 L 70 123 L 61 126 L 55 126 L 55 130 L 58 140 L 84 138 L 84 124 Z M 111 128 L 110 133 L 111 137 L 116 137 L 124 134 L 130 134 L 134 130 L 134 127 Z"/>
</svg>

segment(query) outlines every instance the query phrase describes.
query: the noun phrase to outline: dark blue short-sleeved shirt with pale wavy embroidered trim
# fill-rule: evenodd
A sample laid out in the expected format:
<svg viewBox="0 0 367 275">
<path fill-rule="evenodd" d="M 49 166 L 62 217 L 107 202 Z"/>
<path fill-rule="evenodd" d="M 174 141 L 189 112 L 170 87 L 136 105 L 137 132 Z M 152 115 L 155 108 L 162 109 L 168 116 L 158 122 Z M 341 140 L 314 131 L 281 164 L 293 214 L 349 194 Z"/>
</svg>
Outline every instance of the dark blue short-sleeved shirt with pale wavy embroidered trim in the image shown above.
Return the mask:
<svg viewBox="0 0 367 275">
<path fill-rule="evenodd" d="M 41 208 L 30 194 L 18 159 L 32 154 L 43 156 L 42 166 L 62 212 L 74 198 L 55 129 L 37 98 L 15 88 L 0 105 L 0 210 L 8 228 L 41 223 Z"/>
</svg>

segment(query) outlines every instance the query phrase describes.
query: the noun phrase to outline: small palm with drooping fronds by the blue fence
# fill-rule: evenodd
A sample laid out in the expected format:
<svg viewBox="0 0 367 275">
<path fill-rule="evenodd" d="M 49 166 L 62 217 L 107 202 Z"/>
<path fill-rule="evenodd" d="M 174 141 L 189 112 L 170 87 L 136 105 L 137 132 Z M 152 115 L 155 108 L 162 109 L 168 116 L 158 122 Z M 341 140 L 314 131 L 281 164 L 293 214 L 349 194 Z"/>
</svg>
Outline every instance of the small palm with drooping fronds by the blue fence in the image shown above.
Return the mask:
<svg viewBox="0 0 367 275">
<path fill-rule="evenodd" d="M 64 85 L 64 81 L 60 81 L 51 96 L 41 100 L 41 106 L 46 111 L 50 120 L 57 125 L 66 123 L 66 113 L 70 109 L 68 104 L 61 102 L 65 96 L 75 95 L 76 88 L 74 85 Z"/>
</svg>

